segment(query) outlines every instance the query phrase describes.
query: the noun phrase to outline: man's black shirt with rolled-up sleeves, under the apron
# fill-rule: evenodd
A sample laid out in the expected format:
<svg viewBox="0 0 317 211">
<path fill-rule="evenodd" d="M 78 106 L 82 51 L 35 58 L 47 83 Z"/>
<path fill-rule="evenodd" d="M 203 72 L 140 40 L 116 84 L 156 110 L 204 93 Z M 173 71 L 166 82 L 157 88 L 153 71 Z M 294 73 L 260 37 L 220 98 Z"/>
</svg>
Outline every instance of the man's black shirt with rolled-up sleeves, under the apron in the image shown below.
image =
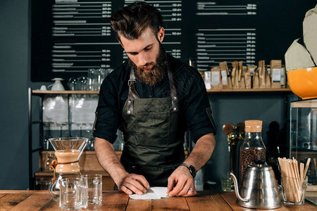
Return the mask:
<svg viewBox="0 0 317 211">
<path fill-rule="evenodd" d="M 211 117 L 209 98 L 204 81 L 199 72 L 168 55 L 170 69 L 173 72 L 180 110 L 180 129 L 192 133 L 196 142 L 204 134 L 216 134 L 216 126 Z M 94 136 L 114 143 L 117 129 L 124 130 L 123 106 L 128 98 L 128 80 L 130 78 L 128 62 L 113 70 L 101 84 L 97 119 L 94 126 Z M 168 75 L 156 86 L 142 84 L 137 80 L 136 90 L 140 98 L 164 98 L 170 96 Z M 126 111 L 125 111 L 126 112 Z"/>
</svg>

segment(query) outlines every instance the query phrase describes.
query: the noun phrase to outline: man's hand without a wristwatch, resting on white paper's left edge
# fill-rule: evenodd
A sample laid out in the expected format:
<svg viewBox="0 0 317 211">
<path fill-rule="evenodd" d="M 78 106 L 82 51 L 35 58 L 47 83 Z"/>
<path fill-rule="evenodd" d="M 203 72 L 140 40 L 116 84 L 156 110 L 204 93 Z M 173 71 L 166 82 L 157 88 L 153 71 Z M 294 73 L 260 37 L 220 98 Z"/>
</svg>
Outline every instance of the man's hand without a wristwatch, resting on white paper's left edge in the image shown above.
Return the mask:
<svg viewBox="0 0 317 211">
<path fill-rule="evenodd" d="M 149 188 L 147 179 L 138 174 L 125 174 L 117 185 L 120 191 L 123 191 L 128 195 L 131 195 L 132 193 L 142 195 L 143 193 L 147 193 L 147 188 Z"/>
</svg>

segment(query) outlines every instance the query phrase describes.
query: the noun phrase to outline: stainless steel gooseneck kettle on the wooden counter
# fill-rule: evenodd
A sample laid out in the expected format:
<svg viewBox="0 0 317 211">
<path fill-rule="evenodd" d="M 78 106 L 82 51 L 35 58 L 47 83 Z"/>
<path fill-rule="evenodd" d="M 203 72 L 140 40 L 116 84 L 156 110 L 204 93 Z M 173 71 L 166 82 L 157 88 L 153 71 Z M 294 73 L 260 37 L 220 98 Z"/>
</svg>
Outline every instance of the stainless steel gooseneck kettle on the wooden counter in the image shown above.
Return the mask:
<svg viewBox="0 0 317 211">
<path fill-rule="evenodd" d="M 248 166 L 242 177 L 240 189 L 235 174 L 230 173 L 235 183 L 237 204 L 242 207 L 257 209 L 275 209 L 280 207 L 282 186 L 277 184 L 272 167 L 264 161 Z"/>
</svg>

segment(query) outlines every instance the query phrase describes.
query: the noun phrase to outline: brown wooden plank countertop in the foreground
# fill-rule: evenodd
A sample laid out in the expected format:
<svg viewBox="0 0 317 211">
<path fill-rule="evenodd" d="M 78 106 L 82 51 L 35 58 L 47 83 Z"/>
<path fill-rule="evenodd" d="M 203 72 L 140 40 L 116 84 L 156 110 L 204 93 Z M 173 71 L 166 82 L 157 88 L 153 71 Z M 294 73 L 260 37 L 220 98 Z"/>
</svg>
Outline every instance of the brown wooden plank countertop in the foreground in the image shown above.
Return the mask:
<svg viewBox="0 0 317 211">
<path fill-rule="evenodd" d="M 89 205 L 85 210 L 253 210 L 240 207 L 235 203 L 233 191 L 215 192 L 199 191 L 193 197 L 173 197 L 156 200 L 134 200 L 125 193 L 104 191 L 102 205 Z M 58 203 L 52 200 L 48 191 L 0 191 L 0 210 L 61 210 Z M 84 210 L 84 209 L 81 209 Z M 316 206 L 305 201 L 304 205 L 282 205 L 275 209 L 316 210 Z"/>
</svg>

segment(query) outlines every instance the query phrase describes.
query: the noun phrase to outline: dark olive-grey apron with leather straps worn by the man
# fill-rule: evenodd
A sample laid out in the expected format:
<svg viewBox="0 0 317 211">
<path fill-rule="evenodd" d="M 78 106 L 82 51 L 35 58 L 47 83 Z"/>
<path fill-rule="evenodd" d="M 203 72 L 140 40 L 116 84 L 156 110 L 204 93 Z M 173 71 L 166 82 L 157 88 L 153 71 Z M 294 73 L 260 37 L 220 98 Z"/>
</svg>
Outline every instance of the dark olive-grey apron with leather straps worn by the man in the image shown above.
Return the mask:
<svg viewBox="0 0 317 211">
<path fill-rule="evenodd" d="M 185 160 L 184 134 L 178 132 L 178 98 L 169 69 L 168 79 L 170 96 L 139 98 L 131 70 L 123 106 L 127 127 L 120 162 L 129 173 L 142 174 L 150 186 L 167 186 L 170 174 Z"/>
</svg>

